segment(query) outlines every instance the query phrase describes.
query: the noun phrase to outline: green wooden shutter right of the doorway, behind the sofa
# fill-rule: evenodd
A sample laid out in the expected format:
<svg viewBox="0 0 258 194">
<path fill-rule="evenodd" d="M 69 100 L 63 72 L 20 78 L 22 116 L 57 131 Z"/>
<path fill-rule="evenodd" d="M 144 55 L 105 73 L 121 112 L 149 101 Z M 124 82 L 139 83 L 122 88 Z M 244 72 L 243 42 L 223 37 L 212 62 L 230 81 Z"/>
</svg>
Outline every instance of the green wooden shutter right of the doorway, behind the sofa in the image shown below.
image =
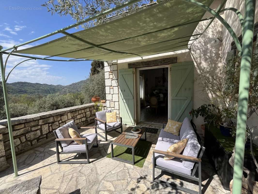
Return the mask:
<svg viewBox="0 0 258 194">
<path fill-rule="evenodd" d="M 171 119 L 182 122 L 190 118 L 193 107 L 193 63 L 183 62 L 171 65 Z"/>
</svg>

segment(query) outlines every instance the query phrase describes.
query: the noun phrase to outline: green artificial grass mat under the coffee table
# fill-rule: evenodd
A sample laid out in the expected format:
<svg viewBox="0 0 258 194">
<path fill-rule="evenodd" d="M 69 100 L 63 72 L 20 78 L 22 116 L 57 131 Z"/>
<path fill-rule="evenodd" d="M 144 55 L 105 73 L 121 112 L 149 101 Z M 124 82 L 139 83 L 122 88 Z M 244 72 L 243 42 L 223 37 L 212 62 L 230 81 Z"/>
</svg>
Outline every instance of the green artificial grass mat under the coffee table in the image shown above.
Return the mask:
<svg viewBox="0 0 258 194">
<path fill-rule="evenodd" d="M 140 168 L 143 167 L 145 159 L 148 156 L 151 147 L 150 141 L 140 140 L 134 147 L 134 165 Z M 114 157 L 121 158 L 124 160 L 133 160 L 132 148 L 118 146 L 114 147 Z M 107 155 L 107 158 L 111 158 L 111 152 Z"/>
</svg>

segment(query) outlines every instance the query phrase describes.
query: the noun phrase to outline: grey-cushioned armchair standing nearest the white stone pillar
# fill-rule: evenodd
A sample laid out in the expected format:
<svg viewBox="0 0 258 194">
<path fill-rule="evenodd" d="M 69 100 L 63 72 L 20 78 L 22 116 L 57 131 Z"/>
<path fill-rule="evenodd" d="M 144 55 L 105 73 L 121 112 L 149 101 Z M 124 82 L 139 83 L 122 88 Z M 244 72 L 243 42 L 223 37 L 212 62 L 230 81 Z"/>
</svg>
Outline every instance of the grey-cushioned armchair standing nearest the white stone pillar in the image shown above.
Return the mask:
<svg viewBox="0 0 258 194">
<path fill-rule="evenodd" d="M 100 137 L 105 139 L 106 141 L 108 140 L 107 134 L 111 131 L 115 131 L 117 129 L 121 129 L 121 133 L 123 132 L 123 125 L 122 125 L 122 117 L 117 117 L 120 122 L 113 122 L 113 123 L 107 123 L 107 117 L 106 113 L 111 113 L 111 110 L 103 110 L 95 113 L 95 126 L 96 129 L 100 129 L 104 131 L 105 137 L 102 135 L 98 134 Z M 117 131 L 119 132 L 119 131 Z M 120 133 L 120 132 L 119 132 Z"/>
</svg>

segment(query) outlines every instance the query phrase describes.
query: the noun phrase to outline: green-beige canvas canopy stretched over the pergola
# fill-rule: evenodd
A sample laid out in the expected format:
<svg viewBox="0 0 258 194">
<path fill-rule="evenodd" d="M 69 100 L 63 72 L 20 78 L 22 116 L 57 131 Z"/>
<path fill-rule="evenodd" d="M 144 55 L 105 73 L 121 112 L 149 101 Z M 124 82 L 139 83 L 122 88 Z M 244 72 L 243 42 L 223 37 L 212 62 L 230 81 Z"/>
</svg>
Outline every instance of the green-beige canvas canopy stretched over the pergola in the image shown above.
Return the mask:
<svg viewBox="0 0 258 194">
<path fill-rule="evenodd" d="M 199 2 L 209 6 L 212 0 Z M 14 53 L 110 61 L 187 49 L 205 12 L 186 2 L 168 1 Z"/>
</svg>

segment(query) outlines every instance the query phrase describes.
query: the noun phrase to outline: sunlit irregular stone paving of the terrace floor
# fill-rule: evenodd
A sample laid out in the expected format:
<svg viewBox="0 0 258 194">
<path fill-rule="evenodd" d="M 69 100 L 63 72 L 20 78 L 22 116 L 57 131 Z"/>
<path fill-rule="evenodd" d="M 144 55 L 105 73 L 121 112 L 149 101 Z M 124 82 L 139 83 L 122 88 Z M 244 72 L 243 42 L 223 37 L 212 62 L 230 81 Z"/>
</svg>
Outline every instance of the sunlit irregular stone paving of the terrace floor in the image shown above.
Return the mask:
<svg viewBox="0 0 258 194">
<path fill-rule="evenodd" d="M 148 124 L 147 127 L 157 128 L 158 126 Z M 126 128 L 127 126 L 124 126 L 124 129 Z M 81 131 L 81 133 L 93 132 L 94 129 Z M 98 137 L 99 147 L 91 150 L 90 164 L 58 165 L 54 141 L 18 155 L 17 163 L 20 176 L 17 178 L 13 178 L 14 174 L 11 160 L 8 160 L 11 167 L 0 173 L 1 189 L 42 175 L 42 194 L 184 193 L 152 182 L 151 155 L 152 150 L 155 149 L 158 134 L 147 133 L 147 140 L 152 142 L 152 147 L 143 168 L 106 158 L 107 154 L 110 153 L 110 142 L 114 140 L 119 133 L 114 131 L 108 134 L 108 141 Z M 75 154 L 63 154 L 61 156 L 73 157 L 74 155 Z M 84 159 L 84 157 L 80 154 L 77 159 Z M 156 173 L 159 172 L 160 171 L 156 169 Z M 180 181 L 176 178 L 176 176 L 171 178 L 165 175 L 162 177 L 163 180 L 174 181 L 185 186 L 187 185 L 192 189 L 198 188 L 195 184 Z M 202 193 L 229 193 L 229 191 L 223 189 L 219 178 L 205 156 L 203 157 L 202 163 L 202 184 Z"/>
</svg>

